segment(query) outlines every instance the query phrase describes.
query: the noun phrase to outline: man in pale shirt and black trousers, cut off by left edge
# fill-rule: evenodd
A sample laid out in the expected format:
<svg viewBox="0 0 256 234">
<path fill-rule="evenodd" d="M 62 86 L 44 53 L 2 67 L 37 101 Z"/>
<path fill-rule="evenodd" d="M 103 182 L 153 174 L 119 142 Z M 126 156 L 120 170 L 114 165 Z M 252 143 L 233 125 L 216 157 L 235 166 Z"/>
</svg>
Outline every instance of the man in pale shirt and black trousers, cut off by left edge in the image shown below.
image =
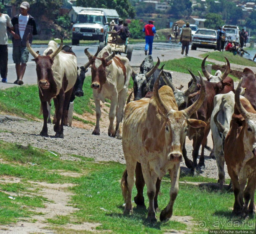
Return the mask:
<svg viewBox="0 0 256 234">
<path fill-rule="evenodd" d="M 8 65 L 8 31 L 14 30 L 11 19 L 7 14 L 1 13 L 0 6 L 0 74 L 3 83 L 7 83 L 7 65 Z"/>
</svg>

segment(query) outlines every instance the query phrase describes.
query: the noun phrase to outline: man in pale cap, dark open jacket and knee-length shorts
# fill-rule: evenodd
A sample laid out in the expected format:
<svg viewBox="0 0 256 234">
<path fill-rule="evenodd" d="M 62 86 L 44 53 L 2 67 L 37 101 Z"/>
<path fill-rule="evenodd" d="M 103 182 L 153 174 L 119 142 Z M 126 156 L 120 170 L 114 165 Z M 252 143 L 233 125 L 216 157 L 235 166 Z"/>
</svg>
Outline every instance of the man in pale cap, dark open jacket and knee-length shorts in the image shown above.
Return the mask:
<svg viewBox="0 0 256 234">
<path fill-rule="evenodd" d="M 26 63 L 29 59 L 29 51 L 26 46 L 27 36 L 30 34 L 29 43 L 32 43 L 32 35 L 37 35 L 36 22 L 33 16 L 28 14 L 30 5 L 28 2 L 20 4 L 20 14 L 14 16 L 11 22 L 14 27 L 12 38 L 12 59 L 15 63 L 17 79 L 14 84 L 23 85 L 23 76 L 26 70 Z"/>
</svg>

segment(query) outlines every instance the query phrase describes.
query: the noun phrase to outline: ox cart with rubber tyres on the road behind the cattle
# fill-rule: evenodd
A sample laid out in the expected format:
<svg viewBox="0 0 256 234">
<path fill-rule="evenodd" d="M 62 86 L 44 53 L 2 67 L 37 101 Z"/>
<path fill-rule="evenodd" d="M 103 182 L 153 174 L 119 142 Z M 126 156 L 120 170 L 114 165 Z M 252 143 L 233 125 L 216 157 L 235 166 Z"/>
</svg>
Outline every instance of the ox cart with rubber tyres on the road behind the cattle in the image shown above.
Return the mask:
<svg viewBox="0 0 256 234">
<path fill-rule="evenodd" d="M 106 43 L 100 42 L 100 51 L 103 49 L 103 47 L 109 45 L 112 49 L 112 51 L 115 51 L 115 54 L 126 54 L 126 58 L 128 58 L 129 61 L 132 59 L 132 52 L 133 52 L 133 46 L 129 45 L 129 38 L 126 38 L 126 41 L 120 43 L 117 42 L 111 35 L 111 33 L 107 34 Z"/>
</svg>

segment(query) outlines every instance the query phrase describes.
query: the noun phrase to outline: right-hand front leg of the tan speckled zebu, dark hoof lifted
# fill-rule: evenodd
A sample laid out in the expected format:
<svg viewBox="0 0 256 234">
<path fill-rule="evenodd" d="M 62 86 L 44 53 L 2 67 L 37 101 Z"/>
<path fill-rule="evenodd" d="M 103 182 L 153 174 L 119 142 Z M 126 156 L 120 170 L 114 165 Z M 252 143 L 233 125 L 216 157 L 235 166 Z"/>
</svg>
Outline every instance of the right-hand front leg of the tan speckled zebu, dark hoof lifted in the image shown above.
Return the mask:
<svg viewBox="0 0 256 234">
<path fill-rule="evenodd" d="M 160 214 L 160 221 L 167 221 L 172 217 L 173 204 L 179 192 L 180 163 L 175 163 L 169 171 L 171 177 L 170 201 Z"/>
</svg>

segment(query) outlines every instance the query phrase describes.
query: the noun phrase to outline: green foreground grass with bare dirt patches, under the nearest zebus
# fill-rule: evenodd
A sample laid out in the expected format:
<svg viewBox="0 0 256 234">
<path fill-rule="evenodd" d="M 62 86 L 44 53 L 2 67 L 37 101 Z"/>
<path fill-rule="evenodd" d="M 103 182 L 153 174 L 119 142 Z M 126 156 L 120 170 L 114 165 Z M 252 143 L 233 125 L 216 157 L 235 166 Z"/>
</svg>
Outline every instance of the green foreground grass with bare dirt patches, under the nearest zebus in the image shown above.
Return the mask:
<svg viewBox="0 0 256 234">
<path fill-rule="evenodd" d="M 0 184 L 0 224 L 10 224 L 22 219 L 31 218 L 30 222 L 36 222 L 33 215 L 42 215 L 33 211 L 33 208 L 44 207 L 45 202 L 52 202 L 40 194 L 42 188 L 35 190 L 30 181 L 47 183 L 73 183 L 74 187 L 68 190 L 74 195 L 69 201 L 70 206 L 80 210 L 71 214 L 56 215 L 47 218 L 46 223 L 50 229 L 58 233 L 67 233 L 62 225 L 83 222 L 100 223 L 98 231 L 113 231 L 114 233 L 166 233 L 171 230 L 187 230 L 192 233 L 208 233 L 208 229 L 253 229 L 253 220 L 243 220 L 233 217 L 233 193 L 211 191 L 191 184 L 180 184 L 180 191 L 174 203 L 174 216 L 189 216 L 190 222 L 174 221 L 157 222 L 150 225 L 146 222 L 147 210 L 134 208 L 134 214 L 123 215 L 123 199 L 121 196 L 120 179 L 124 165 L 115 162 L 95 163 L 92 159 L 82 156 L 77 161 L 61 160 L 58 152 L 53 154 L 31 146 L 22 147 L 0 141 L 0 176 L 18 177 L 20 182 Z M 78 177 L 63 176 L 61 173 L 76 173 Z M 181 181 L 217 182 L 200 176 L 180 176 Z M 161 183 L 161 196 L 159 208 L 162 210 L 169 201 L 170 182 L 166 176 Z M 9 199 L 12 194 L 15 198 Z M 135 196 L 135 187 L 133 197 Z M 146 189 L 144 197 L 148 206 Z M 159 220 L 160 213 L 157 213 Z M 53 226 L 51 226 L 53 225 Z M 239 227 L 240 225 L 240 227 Z M 243 227 L 241 227 L 243 225 Z M 239 228 L 238 228 L 239 227 Z M 79 233 L 88 233 L 79 231 Z"/>
</svg>

